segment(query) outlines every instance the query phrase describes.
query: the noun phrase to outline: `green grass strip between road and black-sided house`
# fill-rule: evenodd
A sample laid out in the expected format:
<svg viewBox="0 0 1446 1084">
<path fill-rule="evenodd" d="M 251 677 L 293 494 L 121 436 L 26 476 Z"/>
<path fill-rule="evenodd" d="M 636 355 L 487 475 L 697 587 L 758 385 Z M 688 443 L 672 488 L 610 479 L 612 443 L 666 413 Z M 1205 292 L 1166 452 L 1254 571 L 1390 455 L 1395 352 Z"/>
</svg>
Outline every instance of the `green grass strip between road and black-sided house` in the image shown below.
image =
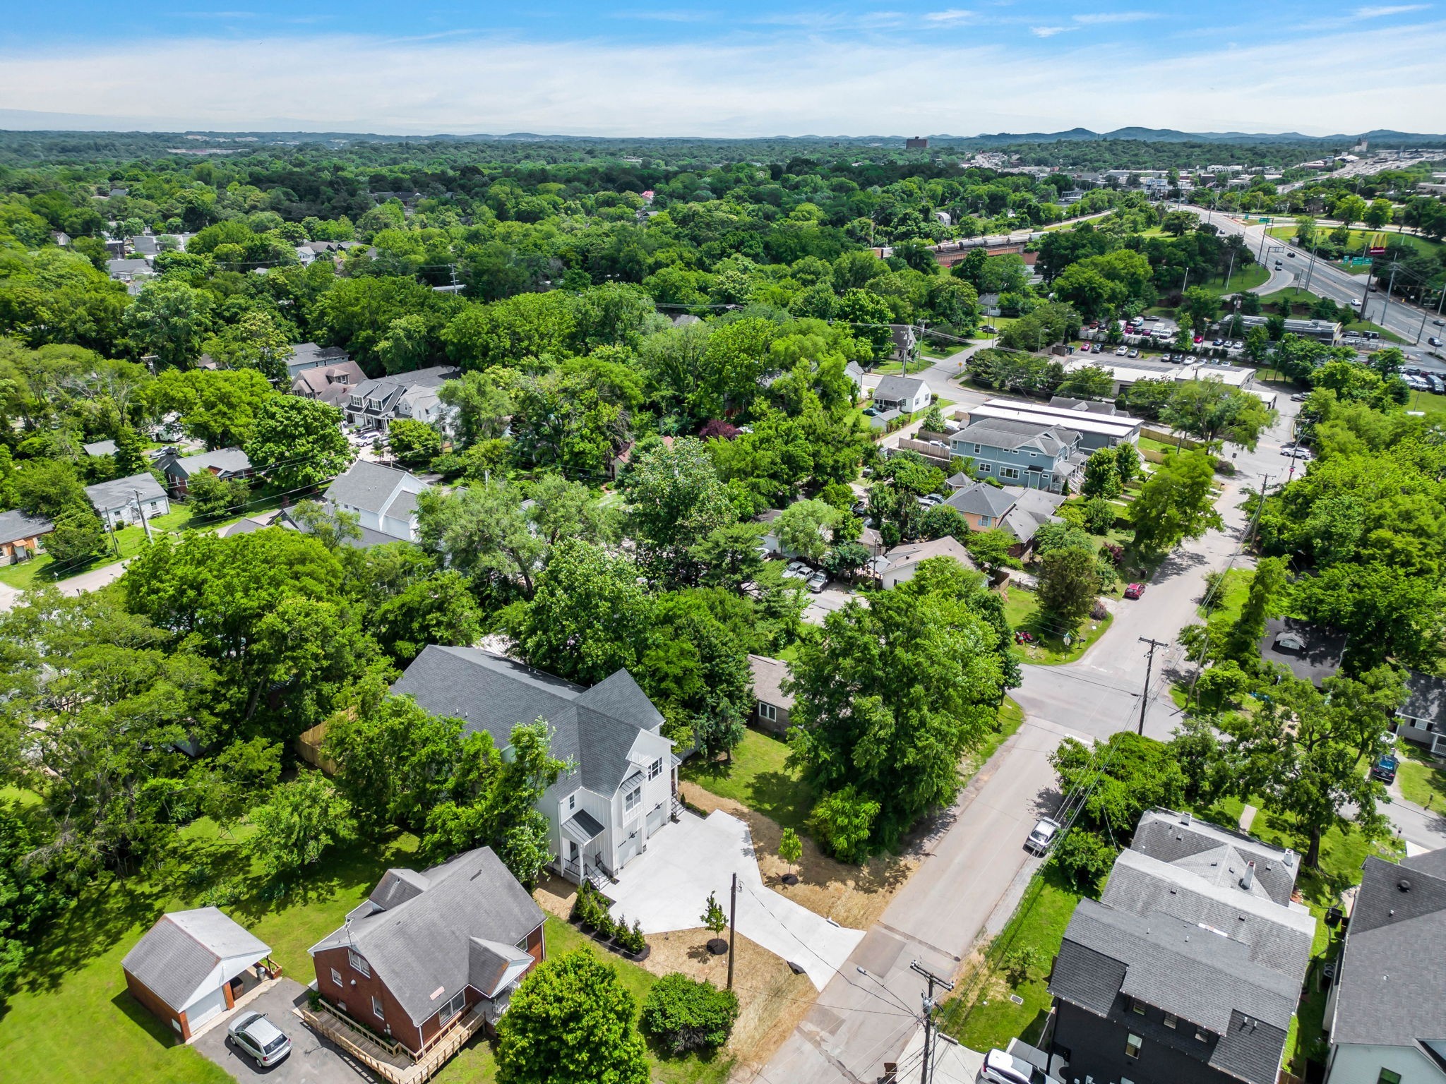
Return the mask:
<svg viewBox="0 0 1446 1084">
<path fill-rule="evenodd" d="M 1035 873 L 1009 925 L 989 944 L 982 967 L 944 1003 L 944 1032 L 976 1051 L 1002 1049 L 1015 1036 L 1038 1042 L 1050 1012 L 1050 967 L 1079 900 L 1080 893 L 1053 863 Z M 1031 951 L 1032 961 L 1024 981 L 1015 984 L 1002 964 L 1019 950 Z M 1024 1003 L 1017 1005 L 1011 994 Z"/>
</svg>

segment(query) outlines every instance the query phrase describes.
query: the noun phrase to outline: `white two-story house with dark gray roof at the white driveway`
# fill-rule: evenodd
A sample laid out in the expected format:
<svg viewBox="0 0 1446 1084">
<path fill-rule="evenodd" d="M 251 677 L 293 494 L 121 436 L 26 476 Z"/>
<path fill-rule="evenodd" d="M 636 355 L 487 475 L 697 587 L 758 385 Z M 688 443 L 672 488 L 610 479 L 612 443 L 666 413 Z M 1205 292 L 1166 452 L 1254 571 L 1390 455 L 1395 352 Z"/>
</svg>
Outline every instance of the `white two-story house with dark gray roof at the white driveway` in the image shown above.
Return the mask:
<svg viewBox="0 0 1446 1084">
<path fill-rule="evenodd" d="M 547 721 L 552 756 L 568 770 L 538 809 L 548 818 L 552 866 L 571 882 L 612 877 L 681 808 L 662 714 L 628 671 L 583 688 L 503 655 L 429 645 L 392 691 L 486 730 L 503 756 L 515 726 Z"/>
</svg>

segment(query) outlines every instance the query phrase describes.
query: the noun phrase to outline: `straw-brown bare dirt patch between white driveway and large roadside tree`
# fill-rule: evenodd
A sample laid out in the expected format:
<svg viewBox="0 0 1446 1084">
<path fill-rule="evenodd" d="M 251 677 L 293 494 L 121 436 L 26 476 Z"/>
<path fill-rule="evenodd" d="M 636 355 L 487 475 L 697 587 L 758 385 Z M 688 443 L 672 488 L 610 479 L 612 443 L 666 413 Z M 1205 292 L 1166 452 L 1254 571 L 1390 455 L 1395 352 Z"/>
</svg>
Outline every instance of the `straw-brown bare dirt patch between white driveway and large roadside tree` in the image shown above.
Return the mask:
<svg viewBox="0 0 1446 1084">
<path fill-rule="evenodd" d="M 678 788 L 696 809 L 704 814 L 722 809 L 748 825 L 753 835 L 758 869 L 768 887 L 842 926 L 868 929 L 878 922 L 894 895 L 918 869 L 917 856 L 879 856 L 863 866 L 847 866 L 830 859 L 813 840 L 800 834 L 804 857 L 798 863 L 798 883 L 784 885 L 782 877 L 790 866 L 778 857 L 778 841 L 784 831 L 777 821 L 732 798 L 719 798 L 697 783 L 684 780 Z"/>
</svg>

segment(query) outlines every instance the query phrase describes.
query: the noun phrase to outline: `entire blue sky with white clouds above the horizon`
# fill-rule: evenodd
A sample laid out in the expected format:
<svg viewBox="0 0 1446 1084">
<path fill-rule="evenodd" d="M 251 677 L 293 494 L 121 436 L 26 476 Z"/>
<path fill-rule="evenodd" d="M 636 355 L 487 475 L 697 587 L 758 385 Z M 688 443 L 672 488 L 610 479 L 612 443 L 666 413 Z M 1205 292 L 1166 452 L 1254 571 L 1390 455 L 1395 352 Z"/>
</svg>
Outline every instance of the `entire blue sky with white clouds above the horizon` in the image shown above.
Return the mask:
<svg viewBox="0 0 1446 1084">
<path fill-rule="evenodd" d="M 1446 0 L 51 0 L 0 29 L 0 126 L 1443 132 L 1443 56 Z"/>
</svg>

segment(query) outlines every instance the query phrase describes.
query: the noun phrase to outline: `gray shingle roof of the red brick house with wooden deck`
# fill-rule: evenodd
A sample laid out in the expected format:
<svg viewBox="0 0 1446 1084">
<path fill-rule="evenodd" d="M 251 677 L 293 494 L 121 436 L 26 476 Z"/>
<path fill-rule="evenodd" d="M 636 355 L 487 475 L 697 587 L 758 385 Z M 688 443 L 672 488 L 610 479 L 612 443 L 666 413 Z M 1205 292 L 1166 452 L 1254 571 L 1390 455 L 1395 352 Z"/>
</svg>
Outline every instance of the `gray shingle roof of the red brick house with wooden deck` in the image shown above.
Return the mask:
<svg viewBox="0 0 1446 1084">
<path fill-rule="evenodd" d="M 471 983 L 474 938 L 510 947 L 542 925 L 542 909 L 490 847 L 466 851 L 422 873 L 396 873 L 401 876 L 393 886 L 425 887 L 412 895 L 393 892 L 390 898 L 405 898 L 390 906 L 379 905 L 373 893 L 370 913 L 353 911 L 348 922 L 312 945 L 311 952 L 353 948 L 412 1023 L 434 1016 Z"/>
</svg>

